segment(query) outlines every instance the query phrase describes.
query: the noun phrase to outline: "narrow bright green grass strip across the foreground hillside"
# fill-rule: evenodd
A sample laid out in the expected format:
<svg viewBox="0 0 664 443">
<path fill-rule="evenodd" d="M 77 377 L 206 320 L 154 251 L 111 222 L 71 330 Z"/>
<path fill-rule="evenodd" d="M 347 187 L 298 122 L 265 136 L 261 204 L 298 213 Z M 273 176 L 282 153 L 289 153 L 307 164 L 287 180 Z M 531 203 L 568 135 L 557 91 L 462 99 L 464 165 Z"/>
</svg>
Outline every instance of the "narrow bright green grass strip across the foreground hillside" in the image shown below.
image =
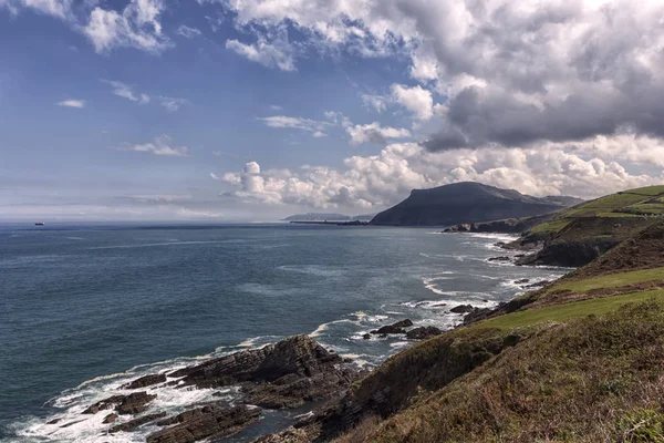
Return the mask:
<svg viewBox="0 0 664 443">
<path fill-rule="evenodd" d="M 470 328 L 498 328 L 501 330 L 511 330 L 529 327 L 543 321 L 564 322 L 589 315 L 603 315 L 614 311 L 627 302 L 643 301 L 650 298 L 664 300 L 664 289 L 573 301 L 547 308 L 528 309 L 496 317 L 476 323 Z"/>
</svg>

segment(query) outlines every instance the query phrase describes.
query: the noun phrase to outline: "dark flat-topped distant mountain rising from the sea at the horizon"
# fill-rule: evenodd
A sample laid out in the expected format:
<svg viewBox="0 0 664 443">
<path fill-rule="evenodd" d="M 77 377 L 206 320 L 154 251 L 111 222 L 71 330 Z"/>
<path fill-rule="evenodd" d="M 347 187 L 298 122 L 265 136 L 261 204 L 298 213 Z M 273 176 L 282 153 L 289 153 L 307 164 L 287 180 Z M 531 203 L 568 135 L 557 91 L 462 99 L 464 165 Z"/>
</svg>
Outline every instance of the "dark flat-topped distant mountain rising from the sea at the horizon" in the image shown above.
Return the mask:
<svg viewBox="0 0 664 443">
<path fill-rule="evenodd" d="M 411 196 L 376 215 L 372 225 L 445 226 L 548 214 L 581 203 L 574 197 L 532 197 L 475 182 L 430 189 Z"/>
</svg>

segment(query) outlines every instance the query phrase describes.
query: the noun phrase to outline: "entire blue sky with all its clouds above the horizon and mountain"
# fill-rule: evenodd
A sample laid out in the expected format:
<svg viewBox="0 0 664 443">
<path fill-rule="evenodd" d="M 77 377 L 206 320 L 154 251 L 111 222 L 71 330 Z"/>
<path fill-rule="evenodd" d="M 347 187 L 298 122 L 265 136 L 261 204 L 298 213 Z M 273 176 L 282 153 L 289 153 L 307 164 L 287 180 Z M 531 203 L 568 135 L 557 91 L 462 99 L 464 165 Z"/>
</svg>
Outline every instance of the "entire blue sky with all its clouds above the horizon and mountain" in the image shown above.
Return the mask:
<svg viewBox="0 0 664 443">
<path fill-rule="evenodd" d="M 664 183 L 664 0 L 0 0 L 0 220 Z"/>
</svg>

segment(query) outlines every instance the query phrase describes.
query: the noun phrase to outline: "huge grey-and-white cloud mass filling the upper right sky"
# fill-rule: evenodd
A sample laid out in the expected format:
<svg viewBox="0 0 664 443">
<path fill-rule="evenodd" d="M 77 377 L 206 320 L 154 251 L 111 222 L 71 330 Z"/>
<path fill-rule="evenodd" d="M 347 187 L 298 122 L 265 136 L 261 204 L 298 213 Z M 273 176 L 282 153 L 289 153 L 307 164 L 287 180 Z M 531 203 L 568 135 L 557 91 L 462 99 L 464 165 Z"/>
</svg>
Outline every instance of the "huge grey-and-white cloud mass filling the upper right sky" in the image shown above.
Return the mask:
<svg viewBox="0 0 664 443">
<path fill-rule="evenodd" d="M 440 128 L 425 144 L 432 151 L 528 147 L 625 128 L 664 137 L 662 1 L 230 0 L 227 7 L 241 29 L 292 25 L 321 52 L 405 53 L 411 76 L 426 89 L 396 85 L 400 103 L 427 120 L 429 92 L 447 95 L 437 112 Z"/>
</svg>

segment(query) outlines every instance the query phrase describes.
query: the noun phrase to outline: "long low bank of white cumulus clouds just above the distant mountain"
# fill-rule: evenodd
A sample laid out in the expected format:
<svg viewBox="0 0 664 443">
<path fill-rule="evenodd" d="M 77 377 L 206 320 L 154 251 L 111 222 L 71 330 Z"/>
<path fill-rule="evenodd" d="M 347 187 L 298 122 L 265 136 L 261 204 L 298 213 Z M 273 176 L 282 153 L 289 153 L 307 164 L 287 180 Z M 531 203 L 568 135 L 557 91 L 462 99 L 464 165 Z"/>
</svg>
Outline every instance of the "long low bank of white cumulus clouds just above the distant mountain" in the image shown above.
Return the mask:
<svg viewBox="0 0 664 443">
<path fill-rule="evenodd" d="M 620 141 L 587 141 L 613 145 Z M 347 206 L 381 209 L 405 198 L 413 188 L 475 181 L 522 193 L 575 195 L 592 198 L 639 186 L 660 184 L 660 175 L 634 174 L 611 158 L 612 150 L 598 150 L 584 157 L 567 152 L 564 145 L 541 148 L 461 148 L 429 152 L 414 144 L 392 144 L 377 155 L 352 156 L 345 168 L 303 166 L 301 171 L 261 169 L 248 163 L 240 173 L 221 181 L 243 200 L 295 204 L 315 208 Z M 657 164 L 661 158 L 643 158 Z"/>
</svg>

